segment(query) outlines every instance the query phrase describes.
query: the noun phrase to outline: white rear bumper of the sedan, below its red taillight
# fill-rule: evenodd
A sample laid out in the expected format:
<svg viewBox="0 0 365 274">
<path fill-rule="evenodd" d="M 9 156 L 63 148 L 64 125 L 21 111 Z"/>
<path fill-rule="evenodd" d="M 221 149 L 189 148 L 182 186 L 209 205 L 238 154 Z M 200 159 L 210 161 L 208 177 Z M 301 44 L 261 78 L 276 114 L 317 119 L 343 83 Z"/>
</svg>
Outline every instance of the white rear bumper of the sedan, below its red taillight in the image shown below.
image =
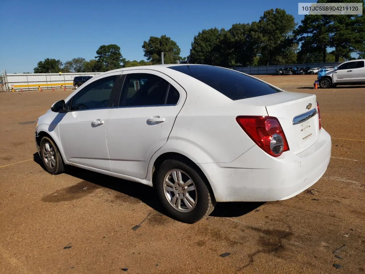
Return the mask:
<svg viewBox="0 0 365 274">
<path fill-rule="evenodd" d="M 327 170 L 331 137 L 322 129 L 318 140 L 294 155 L 272 157 L 257 145 L 231 163 L 199 164 L 218 202 L 266 202 L 296 196 L 316 183 Z"/>
</svg>

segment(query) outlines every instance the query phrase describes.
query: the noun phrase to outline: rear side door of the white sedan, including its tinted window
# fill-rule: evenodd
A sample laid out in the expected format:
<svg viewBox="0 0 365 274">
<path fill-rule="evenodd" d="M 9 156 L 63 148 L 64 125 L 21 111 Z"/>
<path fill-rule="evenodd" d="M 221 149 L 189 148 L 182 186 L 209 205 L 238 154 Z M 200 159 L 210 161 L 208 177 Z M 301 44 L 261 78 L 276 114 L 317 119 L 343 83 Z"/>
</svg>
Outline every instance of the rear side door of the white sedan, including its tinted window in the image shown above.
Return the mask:
<svg viewBox="0 0 365 274">
<path fill-rule="evenodd" d="M 120 96 L 108 117 L 111 170 L 144 179 L 152 155 L 169 137 L 186 92 L 157 71 L 128 70 L 122 77 Z"/>
</svg>

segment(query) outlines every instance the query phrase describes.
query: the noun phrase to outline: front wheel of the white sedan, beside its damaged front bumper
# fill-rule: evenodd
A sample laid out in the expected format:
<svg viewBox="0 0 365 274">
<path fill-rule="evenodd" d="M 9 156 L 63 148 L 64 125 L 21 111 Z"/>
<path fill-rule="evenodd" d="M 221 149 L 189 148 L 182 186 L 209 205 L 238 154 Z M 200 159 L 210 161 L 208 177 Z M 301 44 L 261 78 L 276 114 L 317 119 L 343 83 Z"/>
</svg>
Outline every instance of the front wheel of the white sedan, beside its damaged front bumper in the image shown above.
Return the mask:
<svg viewBox="0 0 365 274">
<path fill-rule="evenodd" d="M 43 137 L 41 140 L 41 159 L 47 172 L 50 174 L 61 174 L 65 172 L 62 156 L 53 140 Z"/>
</svg>

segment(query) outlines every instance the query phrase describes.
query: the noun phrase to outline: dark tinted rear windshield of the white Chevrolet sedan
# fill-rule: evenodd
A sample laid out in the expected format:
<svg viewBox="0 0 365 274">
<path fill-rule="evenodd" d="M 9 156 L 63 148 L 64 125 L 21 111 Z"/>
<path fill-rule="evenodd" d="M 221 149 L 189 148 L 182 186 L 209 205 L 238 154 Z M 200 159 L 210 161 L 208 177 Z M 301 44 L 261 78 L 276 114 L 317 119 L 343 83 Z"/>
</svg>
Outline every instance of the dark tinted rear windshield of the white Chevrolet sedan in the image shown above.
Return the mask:
<svg viewBox="0 0 365 274">
<path fill-rule="evenodd" d="M 180 65 L 169 66 L 168 68 L 194 77 L 232 100 L 268 95 L 281 91 L 241 72 L 216 66 Z"/>
</svg>

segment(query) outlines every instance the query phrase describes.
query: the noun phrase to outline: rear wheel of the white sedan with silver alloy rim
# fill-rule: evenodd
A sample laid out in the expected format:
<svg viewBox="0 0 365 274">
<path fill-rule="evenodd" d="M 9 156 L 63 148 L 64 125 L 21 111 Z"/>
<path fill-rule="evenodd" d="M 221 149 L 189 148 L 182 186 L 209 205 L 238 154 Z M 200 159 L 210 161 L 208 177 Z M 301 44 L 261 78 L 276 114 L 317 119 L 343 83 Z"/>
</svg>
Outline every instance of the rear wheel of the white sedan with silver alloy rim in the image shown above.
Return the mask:
<svg viewBox="0 0 365 274">
<path fill-rule="evenodd" d="M 212 213 L 213 193 L 190 165 L 165 160 L 157 170 L 156 188 L 164 208 L 181 222 L 193 224 Z"/>
</svg>

